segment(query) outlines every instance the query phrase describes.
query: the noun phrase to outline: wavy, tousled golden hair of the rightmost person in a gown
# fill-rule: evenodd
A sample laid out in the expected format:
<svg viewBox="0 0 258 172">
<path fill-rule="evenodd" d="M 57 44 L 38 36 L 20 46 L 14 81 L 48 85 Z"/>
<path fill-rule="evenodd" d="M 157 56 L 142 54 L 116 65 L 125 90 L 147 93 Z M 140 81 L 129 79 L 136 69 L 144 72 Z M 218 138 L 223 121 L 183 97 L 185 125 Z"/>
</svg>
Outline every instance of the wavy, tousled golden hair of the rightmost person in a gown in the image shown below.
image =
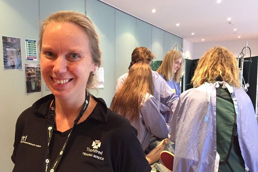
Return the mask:
<svg viewBox="0 0 258 172">
<path fill-rule="evenodd" d="M 198 61 L 192 78 L 194 87 L 204 82 L 225 81 L 240 88 L 238 63 L 232 52 L 225 47 L 215 46 L 206 51 Z"/>
</svg>

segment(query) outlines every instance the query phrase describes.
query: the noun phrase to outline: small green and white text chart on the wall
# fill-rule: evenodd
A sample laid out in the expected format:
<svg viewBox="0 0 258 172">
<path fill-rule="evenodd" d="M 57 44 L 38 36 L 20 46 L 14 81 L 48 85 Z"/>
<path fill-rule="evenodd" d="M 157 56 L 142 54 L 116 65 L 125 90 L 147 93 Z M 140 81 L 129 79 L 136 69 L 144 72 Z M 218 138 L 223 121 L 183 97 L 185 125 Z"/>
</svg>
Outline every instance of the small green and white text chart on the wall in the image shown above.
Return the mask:
<svg viewBox="0 0 258 172">
<path fill-rule="evenodd" d="M 38 61 L 37 41 L 32 39 L 25 39 L 25 46 L 26 46 L 26 60 Z"/>
</svg>

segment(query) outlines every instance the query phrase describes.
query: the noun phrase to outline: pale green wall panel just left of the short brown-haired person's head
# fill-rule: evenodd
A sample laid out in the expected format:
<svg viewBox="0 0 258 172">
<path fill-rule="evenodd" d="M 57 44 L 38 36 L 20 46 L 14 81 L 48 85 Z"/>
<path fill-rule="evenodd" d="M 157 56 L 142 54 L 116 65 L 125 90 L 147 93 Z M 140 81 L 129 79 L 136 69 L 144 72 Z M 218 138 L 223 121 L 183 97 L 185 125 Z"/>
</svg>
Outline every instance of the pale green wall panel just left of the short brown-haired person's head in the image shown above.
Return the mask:
<svg viewBox="0 0 258 172">
<path fill-rule="evenodd" d="M 115 83 L 128 72 L 131 54 L 136 48 L 136 18 L 116 10 Z"/>
</svg>

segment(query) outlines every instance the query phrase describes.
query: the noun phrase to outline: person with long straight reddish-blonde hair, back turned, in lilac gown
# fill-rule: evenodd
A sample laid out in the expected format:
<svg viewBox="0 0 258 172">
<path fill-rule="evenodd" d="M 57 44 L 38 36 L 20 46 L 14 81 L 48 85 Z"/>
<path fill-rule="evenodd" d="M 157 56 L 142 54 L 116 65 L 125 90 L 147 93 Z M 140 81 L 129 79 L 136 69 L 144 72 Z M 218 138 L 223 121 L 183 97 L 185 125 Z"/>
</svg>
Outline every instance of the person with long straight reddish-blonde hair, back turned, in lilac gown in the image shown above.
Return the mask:
<svg viewBox="0 0 258 172">
<path fill-rule="evenodd" d="M 135 63 L 110 105 L 111 110 L 127 118 L 137 129 L 143 150 L 147 149 L 152 135 L 167 138 L 169 133 L 169 125 L 160 114 L 153 90 L 151 67 L 144 62 Z"/>
</svg>

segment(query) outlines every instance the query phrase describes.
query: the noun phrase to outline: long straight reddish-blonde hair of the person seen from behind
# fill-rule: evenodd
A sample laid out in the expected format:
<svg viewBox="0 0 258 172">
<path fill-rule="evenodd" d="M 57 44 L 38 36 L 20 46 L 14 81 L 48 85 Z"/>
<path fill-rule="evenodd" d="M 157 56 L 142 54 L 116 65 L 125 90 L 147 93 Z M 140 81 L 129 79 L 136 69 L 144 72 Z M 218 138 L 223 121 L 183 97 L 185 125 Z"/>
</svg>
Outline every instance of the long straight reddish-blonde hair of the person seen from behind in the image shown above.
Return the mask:
<svg viewBox="0 0 258 172">
<path fill-rule="evenodd" d="M 110 109 L 129 121 L 137 120 L 142 98 L 146 93 L 153 95 L 154 84 L 151 67 L 147 63 L 135 63 L 128 72 L 122 87 L 116 92 Z"/>
</svg>

